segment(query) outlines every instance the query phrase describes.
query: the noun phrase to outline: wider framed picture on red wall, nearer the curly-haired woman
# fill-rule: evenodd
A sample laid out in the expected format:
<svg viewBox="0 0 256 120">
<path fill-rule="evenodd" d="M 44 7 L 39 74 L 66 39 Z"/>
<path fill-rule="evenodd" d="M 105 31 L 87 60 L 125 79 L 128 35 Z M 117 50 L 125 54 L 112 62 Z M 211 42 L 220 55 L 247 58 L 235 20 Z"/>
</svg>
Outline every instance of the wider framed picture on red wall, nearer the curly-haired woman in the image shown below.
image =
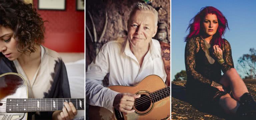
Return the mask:
<svg viewBox="0 0 256 120">
<path fill-rule="evenodd" d="M 38 0 L 39 10 L 66 10 L 66 0 Z"/>
</svg>

